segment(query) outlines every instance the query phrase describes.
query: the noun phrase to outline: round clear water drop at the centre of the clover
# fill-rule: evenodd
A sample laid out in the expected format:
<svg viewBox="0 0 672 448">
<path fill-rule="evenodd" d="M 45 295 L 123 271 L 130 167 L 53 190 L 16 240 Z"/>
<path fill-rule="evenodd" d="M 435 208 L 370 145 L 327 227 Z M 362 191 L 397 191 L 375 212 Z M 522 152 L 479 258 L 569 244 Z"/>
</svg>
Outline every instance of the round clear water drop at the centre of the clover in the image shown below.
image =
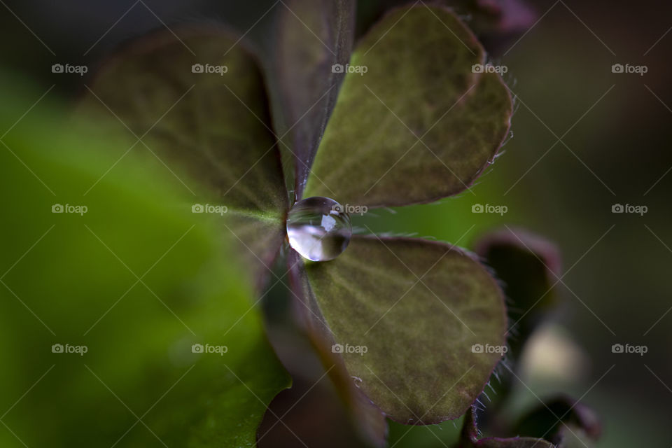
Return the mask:
<svg viewBox="0 0 672 448">
<path fill-rule="evenodd" d="M 289 244 L 309 260 L 333 260 L 348 246 L 351 235 L 350 215 L 328 197 L 307 197 L 287 215 Z"/>
</svg>

